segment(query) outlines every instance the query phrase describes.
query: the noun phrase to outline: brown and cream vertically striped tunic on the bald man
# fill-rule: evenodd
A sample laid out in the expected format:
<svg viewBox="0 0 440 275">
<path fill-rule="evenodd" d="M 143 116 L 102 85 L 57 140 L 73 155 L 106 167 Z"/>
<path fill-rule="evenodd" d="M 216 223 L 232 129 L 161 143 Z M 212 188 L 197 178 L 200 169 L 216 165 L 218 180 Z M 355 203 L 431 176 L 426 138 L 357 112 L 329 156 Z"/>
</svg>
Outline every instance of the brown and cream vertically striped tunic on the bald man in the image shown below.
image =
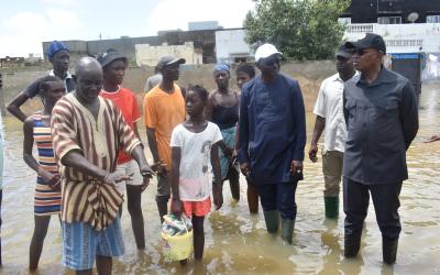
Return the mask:
<svg viewBox="0 0 440 275">
<path fill-rule="evenodd" d="M 97 119 L 77 99 L 76 92 L 64 96 L 52 111 L 52 135 L 55 157 L 63 178 L 62 220 L 87 222 L 100 231 L 111 224 L 123 199 L 116 186 L 107 185 L 62 164 L 70 151 L 108 172 L 117 167 L 118 150 L 128 154 L 141 142 L 123 120 L 119 109 L 108 99 L 98 97 Z"/>
</svg>

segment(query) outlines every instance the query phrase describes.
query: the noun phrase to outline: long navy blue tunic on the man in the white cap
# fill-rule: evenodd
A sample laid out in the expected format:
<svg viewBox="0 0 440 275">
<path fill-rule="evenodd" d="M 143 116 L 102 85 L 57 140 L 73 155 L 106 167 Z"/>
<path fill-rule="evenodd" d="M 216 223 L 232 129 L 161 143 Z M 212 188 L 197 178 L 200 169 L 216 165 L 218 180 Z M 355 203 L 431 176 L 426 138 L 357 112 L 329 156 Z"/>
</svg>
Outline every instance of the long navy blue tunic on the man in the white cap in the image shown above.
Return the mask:
<svg viewBox="0 0 440 275">
<path fill-rule="evenodd" d="M 240 102 L 239 161 L 250 163 L 252 183 L 292 182 L 290 163 L 304 160 L 306 119 L 296 80 L 279 74 L 243 86 Z"/>
</svg>

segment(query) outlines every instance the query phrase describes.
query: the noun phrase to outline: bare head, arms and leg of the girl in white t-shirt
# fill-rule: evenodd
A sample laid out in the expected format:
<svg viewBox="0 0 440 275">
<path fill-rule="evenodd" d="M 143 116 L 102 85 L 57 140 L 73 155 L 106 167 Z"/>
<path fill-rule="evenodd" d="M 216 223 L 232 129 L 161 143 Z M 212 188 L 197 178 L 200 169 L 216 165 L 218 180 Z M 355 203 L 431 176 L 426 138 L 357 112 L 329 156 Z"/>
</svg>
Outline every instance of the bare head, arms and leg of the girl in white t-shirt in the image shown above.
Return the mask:
<svg viewBox="0 0 440 275">
<path fill-rule="evenodd" d="M 200 133 L 208 127 L 208 121 L 204 118 L 204 106 L 205 102 L 200 99 L 199 95 L 193 90 L 188 90 L 185 98 L 186 111 L 189 119 L 184 122 L 184 127 L 194 133 Z M 212 196 L 216 209 L 220 209 L 223 205 L 222 195 L 222 182 L 220 179 L 220 161 L 219 161 L 219 142 L 211 146 L 211 165 L 213 176 L 217 179 L 216 184 L 212 185 Z M 179 194 L 179 166 L 182 160 L 180 147 L 172 147 L 172 212 L 175 215 L 182 215 L 184 211 L 183 202 Z M 194 228 L 194 256 L 196 260 L 201 260 L 204 256 L 205 248 L 205 230 L 204 230 L 205 217 L 193 216 L 193 228 Z"/>
</svg>

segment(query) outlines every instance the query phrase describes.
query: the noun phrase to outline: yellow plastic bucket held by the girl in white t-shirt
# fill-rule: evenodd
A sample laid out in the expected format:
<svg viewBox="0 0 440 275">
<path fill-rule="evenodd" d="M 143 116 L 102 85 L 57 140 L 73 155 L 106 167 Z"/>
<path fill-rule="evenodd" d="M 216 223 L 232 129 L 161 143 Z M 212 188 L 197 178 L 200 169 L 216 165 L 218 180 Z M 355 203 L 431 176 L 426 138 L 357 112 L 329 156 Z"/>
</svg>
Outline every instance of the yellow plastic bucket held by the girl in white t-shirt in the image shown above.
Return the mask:
<svg viewBox="0 0 440 275">
<path fill-rule="evenodd" d="M 165 261 L 180 261 L 193 254 L 193 230 L 183 235 L 168 235 L 162 232 Z"/>
</svg>

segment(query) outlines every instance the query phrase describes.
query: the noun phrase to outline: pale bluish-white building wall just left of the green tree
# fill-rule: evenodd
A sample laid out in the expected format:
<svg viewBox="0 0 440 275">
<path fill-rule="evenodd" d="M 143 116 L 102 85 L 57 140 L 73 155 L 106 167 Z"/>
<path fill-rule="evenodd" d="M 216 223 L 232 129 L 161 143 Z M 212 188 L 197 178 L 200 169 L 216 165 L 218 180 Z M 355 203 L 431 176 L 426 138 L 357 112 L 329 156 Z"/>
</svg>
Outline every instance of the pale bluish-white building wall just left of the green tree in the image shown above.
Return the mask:
<svg viewBox="0 0 440 275">
<path fill-rule="evenodd" d="M 244 29 L 216 31 L 216 54 L 219 63 L 240 63 L 253 59 L 251 48 L 244 41 Z"/>
</svg>

